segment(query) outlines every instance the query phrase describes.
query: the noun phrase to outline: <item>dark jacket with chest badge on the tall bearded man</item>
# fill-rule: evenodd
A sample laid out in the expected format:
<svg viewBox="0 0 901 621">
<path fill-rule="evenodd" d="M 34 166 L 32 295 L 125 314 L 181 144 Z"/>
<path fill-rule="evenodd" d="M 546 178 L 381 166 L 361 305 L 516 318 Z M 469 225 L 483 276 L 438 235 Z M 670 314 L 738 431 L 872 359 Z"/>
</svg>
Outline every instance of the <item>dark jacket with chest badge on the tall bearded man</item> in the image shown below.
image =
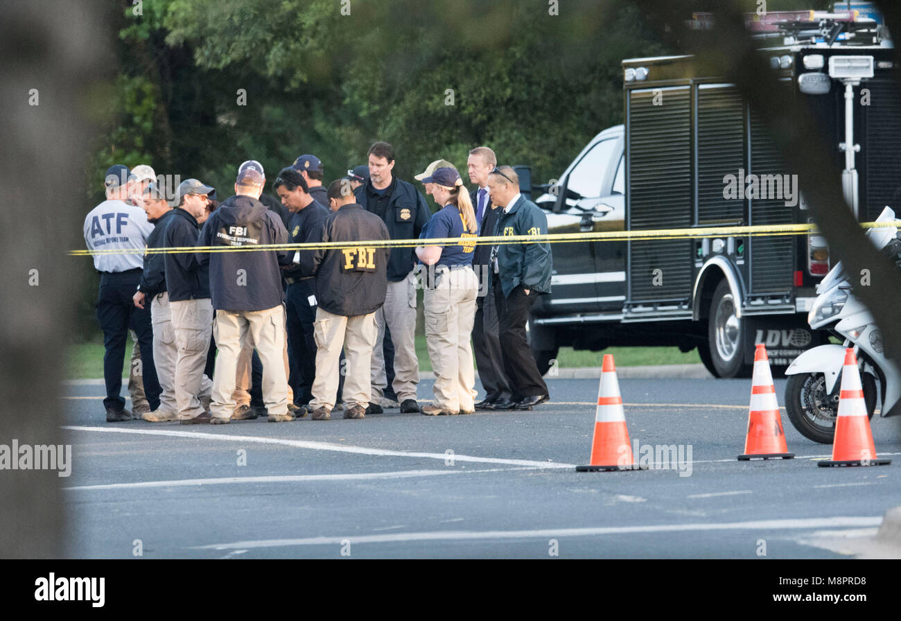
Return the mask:
<svg viewBox="0 0 901 621">
<path fill-rule="evenodd" d="M 372 180 L 367 179 L 366 183 L 356 189 L 355 194 L 360 206 L 376 213 L 375 200 L 370 195 L 371 187 Z M 391 239 L 418 239 L 423 226 L 432 215 L 429 207 L 425 205 L 425 198 L 412 184 L 396 177 L 391 181 L 388 191 L 391 196 L 387 200 L 385 214 L 378 215 L 385 221 Z M 387 279 L 391 282 L 405 279 L 417 261 L 413 248 L 392 248 L 391 258 L 388 260 Z"/>
</svg>

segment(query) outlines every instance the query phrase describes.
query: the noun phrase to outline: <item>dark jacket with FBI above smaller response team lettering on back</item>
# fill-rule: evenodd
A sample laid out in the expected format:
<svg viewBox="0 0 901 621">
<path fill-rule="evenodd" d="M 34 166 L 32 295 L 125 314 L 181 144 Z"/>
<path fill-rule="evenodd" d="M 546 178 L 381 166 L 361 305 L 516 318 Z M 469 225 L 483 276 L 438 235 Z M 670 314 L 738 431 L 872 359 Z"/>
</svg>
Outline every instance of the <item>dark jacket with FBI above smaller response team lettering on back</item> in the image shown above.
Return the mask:
<svg viewBox="0 0 901 621">
<path fill-rule="evenodd" d="M 287 230 L 275 215 L 251 196 L 232 196 L 216 209 L 200 232 L 198 246 L 257 246 L 287 243 Z M 217 310 L 257 311 L 282 303 L 279 264 L 288 251 L 197 252 L 209 264 L 210 294 Z"/>
</svg>

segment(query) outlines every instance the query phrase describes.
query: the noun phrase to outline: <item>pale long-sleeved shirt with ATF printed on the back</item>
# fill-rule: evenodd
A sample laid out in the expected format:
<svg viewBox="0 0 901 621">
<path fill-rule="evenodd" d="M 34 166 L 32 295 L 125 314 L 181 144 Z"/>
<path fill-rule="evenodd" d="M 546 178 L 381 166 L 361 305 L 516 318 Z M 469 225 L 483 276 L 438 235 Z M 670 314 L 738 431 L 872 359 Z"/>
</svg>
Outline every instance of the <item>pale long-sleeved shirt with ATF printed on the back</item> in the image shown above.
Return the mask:
<svg viewBox="0 0 901 621">
<path fill-rule="evenodd" d="M 144 252 L 153 224 L 141 207 L 121 200 L 105 200 L 85 217 L 85 243 L 89 251 L 141 252 L 95 254 L 97 271 L 121 272 L 144 267 Z"/>
</svg>

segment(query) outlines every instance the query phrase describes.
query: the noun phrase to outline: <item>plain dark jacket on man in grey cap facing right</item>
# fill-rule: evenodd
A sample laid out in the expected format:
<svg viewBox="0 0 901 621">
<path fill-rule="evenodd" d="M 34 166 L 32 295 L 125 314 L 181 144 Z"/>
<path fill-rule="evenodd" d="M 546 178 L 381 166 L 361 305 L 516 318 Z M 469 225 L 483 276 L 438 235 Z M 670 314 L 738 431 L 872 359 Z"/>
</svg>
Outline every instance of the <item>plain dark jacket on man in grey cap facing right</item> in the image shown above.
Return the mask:
<svg viewBox="0 0 901 621">
<path fill-rule="evenodd" d="M 200 225 L 193 215 L 181 207 L 172 210 L 163 241 L 166 248 L 196 246 Z M 163 255 L 166 265 L 166 287 L 169 302 L 195 300 L 210 297 L 210 268 L 197 261 L 195 252 L 167 252 Z"/>
</svg>

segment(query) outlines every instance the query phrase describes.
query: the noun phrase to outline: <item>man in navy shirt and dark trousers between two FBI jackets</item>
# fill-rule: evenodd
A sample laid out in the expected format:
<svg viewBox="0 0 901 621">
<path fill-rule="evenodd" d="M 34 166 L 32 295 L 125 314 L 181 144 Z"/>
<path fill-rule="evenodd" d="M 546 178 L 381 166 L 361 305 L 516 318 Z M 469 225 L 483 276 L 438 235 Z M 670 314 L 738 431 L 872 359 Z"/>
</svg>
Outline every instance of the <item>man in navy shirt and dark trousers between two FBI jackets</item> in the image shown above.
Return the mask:
<svg viewBox="0 0 901 621">
<path fill-rule="evenodd" d="M 272 189 L 290 212 L 288 243 L 318 242 L 323 221 L 330 214 L 325 205 L 315 201 L 303 175 L 293 168 L 283 169 Z M 311 237 L 313 239 L 311 239 Z M 316 282 L 314 277 L 301 273 L 301 255 L 294 254 L 291 265 L 282 267 L 287 282 L 285 310 L 287 312 L 287 357 L 290 364 L 287 383 L 294 391 L 296 406 L 307 406 L 313 399 L 316 377 L 316 341 L 313 323 L 316 320 Z"/>
</svg>

